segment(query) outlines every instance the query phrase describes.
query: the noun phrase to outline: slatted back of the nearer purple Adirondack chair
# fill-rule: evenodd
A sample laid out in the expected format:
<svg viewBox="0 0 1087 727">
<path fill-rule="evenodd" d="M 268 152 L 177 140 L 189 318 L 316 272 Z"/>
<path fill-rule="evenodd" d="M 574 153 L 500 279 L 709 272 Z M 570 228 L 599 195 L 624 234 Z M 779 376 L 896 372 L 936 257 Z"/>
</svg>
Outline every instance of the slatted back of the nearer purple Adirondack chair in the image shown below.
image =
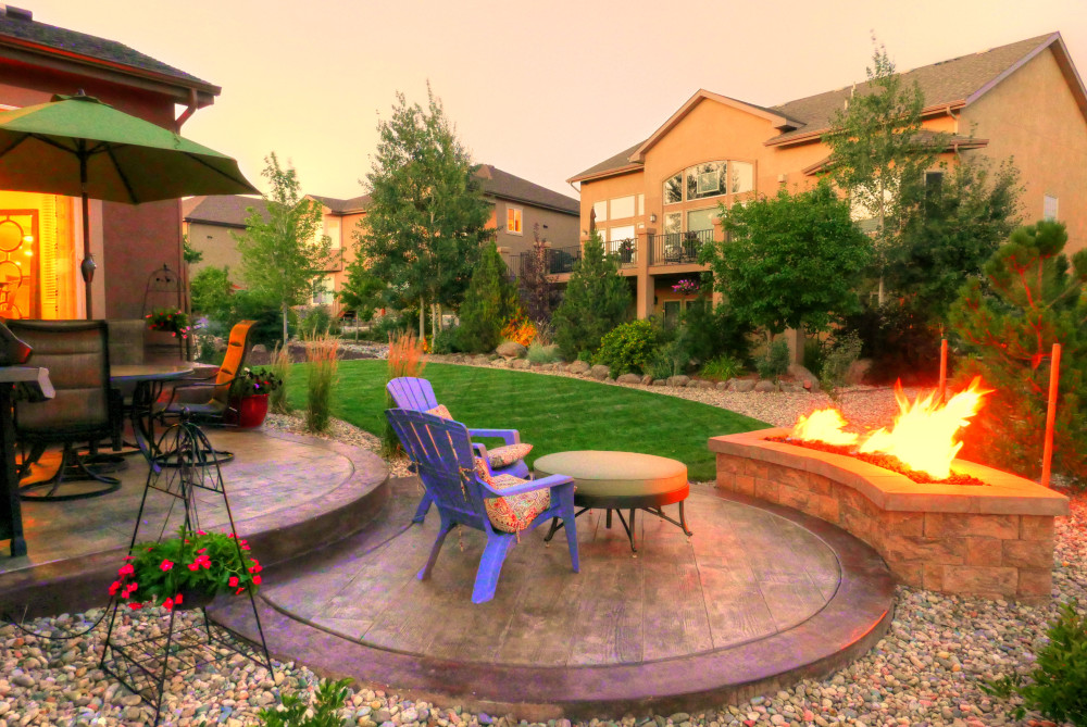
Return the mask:
<svg viewBox="0 0 1087 727">
<path fill-rule="evenodd" d="M 438 507 L 455 513 L 465 525 L 489 528 L 467 428 L 410 409 L 389 409 L 385 414 Z"/>
</svg>

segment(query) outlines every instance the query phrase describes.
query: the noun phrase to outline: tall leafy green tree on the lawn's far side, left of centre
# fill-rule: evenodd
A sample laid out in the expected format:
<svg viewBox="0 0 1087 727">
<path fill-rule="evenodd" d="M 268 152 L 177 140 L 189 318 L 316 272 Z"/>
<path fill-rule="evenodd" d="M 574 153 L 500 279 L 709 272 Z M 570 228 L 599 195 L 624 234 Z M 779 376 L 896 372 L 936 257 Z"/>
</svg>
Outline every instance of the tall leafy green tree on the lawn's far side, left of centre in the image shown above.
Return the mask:
<svg viewBox="0 0 1087 727">
<path fill-rule="evenodd" d="M 358 260 L 401 299 L 418 302 L 420 337 L 427 305 L 460 305 L 479 260 L 491 205 L 483 198 L 467 151 L 427 86 L 426 109 L 403 93 L 388 121 L 366 175 L 371 203 L 354 239 Z M 440 310 L 433 310 L 433 333 Z"/>
</svg>

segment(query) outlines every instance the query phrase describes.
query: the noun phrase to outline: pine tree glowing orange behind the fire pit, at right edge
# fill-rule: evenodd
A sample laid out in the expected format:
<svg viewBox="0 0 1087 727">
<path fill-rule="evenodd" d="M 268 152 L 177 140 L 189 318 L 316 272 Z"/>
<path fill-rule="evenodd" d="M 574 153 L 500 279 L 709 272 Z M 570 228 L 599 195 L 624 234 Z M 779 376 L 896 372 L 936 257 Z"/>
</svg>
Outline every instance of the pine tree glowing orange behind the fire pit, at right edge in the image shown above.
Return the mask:
<svg viewBox="0 0 1087 727">
<path fill-rule="evenodd" d="M 952 306 L 966 352 L 959 376 L 979 374 L 995 391 L 966 431 L 963 455 L 1024 477 L 1041 469 L 1051 351 L 1061 344 L 1053 471 L 1087 478 L 1087 250 L 1062 254 L 1059 222 L 1020 227 Z"/>
</svg>

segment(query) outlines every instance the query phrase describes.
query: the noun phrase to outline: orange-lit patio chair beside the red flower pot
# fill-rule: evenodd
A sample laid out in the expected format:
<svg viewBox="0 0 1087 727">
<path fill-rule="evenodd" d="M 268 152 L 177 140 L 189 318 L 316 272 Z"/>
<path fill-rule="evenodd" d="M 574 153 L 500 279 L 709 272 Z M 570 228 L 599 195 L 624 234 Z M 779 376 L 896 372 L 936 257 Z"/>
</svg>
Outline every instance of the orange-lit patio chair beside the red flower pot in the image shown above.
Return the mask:
<svg viewBox="0 0 1087 727">
<path fill-rule="evenodd" d="M 155 406 L 155 414 L 160 417 L 179 418 L 184 411 L 188 411 L 196 424 L 229 424 L 232 416 L 237 417 L 238 410 L 230 401 L 230 385 L 246 365 L 246 356 L 252 348 L 249 331 L 255 324 L 255 321 L 241 321 L 230 329 L 226 355 L 214 374 L 214 380 L 211 376 L 179 379 L 171 391 L 170 399 Z M 221 450 L 207 454 L 211 455 L 207 464 L 212 461 L 223 464 L 234 459 L 233 453 Z"/>
</svg>

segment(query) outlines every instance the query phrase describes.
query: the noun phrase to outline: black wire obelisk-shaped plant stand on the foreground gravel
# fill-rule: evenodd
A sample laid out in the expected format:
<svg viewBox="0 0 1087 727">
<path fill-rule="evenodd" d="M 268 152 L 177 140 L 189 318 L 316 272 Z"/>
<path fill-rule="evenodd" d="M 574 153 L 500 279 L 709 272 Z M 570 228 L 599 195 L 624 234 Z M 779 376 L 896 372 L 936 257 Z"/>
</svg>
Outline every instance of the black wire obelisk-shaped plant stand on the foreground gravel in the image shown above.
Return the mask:
<svg viewBox="0 0 1087 727">
<path fill-rule="evenodd" d="M 136 547 L 148 493 L 151 490 L 165 492 L 184 503 L 182 537 L 200 529 L 197 515 L 197 494 L 200 491 L 223 498 L 230 531 L 237 532 L 230 502 L 223 486 L 223 475 L 218 465 L 207 459 L 207 453 L 213 450 L 203 431 L 185 418 L 166 429 L 159 439 L 159 448 L 162 452 L 161 459 L 167 461 L 171 466 L 158 467 L 152 463 L 143 488 L 139 514 L 136 516 L 136 526 L 133 528 L 133 538 L 128 546 L 129 554 Z M 158 534 L 160 539 L 166 529 L 176 500 L 171 503 L 170 511 L 163 519 Z M 240 535 L 235 538 L 239 559 L 242 555 L 240 540 Z M 272 659 L 268 655 L 252 590 L 249 591 L 249 602 L 253 610 L 260 643 L 214 623 L 208 617 L 205 605 L 199 607 L 201 613 L 191 625 L 179 623 L 177 611 L 180 609 L 168 612 L 163 609 L 152 609 L 150 612 L 133 611 L 130 616 L 135 623 L 132 632 L 121 637 L 114 632 L 118 611 L 122 609 L 122 603 L 117 601 L 110 615 L 110 627 L 105 635 L 105 648 L 100 666 L 107 674 L 142 698 L 145 704 L 154 711 L 152 725 L 159 724 L 163 691 L 175 676 L 195 672 L 205 665 L 225 662 L 240 654 L 258 666 L 265 667 L 268 676 L 273 677 Z"/>
</svg>

